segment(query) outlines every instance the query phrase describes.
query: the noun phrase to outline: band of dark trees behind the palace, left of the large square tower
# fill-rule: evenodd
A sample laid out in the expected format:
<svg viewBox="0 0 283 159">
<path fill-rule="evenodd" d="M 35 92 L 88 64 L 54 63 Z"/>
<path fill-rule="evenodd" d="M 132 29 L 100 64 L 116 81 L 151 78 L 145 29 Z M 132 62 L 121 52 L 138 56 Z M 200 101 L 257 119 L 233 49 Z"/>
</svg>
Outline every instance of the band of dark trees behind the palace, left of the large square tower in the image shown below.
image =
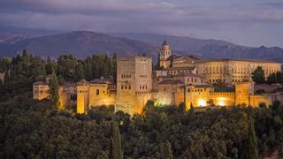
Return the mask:
<svg viewBox="0 0 283 159">
<path fill-rule="evenodd" d="M 50 57 L 42 59 L 42 57 L 29 56 L 27 50 L 24 50 L 17 57 L 1 58 L 0 72 L 10 72 L 12 79 L 21 79 L 25 75 L 29 81 L 43 80 L 53 71 L 56 72 L 60 82 L 110 78 L 116 75 L 116 58 L 116 54 L 113 58 L 104 54 L 93 55 L 84 60 L 77 59 L 73 55 L 62 55 L 56 60 L 51 60 Z"/>
</svg>

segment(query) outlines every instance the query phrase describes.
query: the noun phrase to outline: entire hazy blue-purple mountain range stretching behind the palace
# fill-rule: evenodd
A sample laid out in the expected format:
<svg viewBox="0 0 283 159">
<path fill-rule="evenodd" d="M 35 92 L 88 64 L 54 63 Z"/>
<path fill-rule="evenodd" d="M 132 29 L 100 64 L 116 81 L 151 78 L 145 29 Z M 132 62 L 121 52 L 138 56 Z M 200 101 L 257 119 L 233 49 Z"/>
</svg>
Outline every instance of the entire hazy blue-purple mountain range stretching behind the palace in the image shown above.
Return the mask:
<svg viewBox="0 0 283 159">
<path fill-rule="evenodd" d="M 76 57 L 106 53 L 118 56 L 146 54 L 157 59 L 162 42 L 166 39 L 173 53 L 195 55 L 201 58 L 248 58 L 283 62 L 283 49 L 279 47 L 247 47 L 221 40 L 203 40 L 191 37 L 161 34 L 101 34 L 75 31 L 47 35 L 15 34 L 1 32 L 0 57 L 12 57 L 22 49 L 42 57 L 58 57 L 72 53 Z"/>
</svg>

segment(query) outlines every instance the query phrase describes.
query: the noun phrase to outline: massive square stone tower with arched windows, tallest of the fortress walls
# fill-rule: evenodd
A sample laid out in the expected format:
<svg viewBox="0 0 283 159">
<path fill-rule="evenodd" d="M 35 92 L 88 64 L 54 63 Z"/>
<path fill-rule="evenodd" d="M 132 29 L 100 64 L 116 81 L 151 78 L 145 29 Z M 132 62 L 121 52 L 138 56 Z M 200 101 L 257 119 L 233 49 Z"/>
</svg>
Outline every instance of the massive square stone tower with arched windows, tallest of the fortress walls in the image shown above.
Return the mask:
<svg viewBox="0 0 283 159">
<path fill-rule="evenodd" d="M 118 57 L 116 111 L 141 113 L 151 89 L 152 57 Z"/>
</svg>

